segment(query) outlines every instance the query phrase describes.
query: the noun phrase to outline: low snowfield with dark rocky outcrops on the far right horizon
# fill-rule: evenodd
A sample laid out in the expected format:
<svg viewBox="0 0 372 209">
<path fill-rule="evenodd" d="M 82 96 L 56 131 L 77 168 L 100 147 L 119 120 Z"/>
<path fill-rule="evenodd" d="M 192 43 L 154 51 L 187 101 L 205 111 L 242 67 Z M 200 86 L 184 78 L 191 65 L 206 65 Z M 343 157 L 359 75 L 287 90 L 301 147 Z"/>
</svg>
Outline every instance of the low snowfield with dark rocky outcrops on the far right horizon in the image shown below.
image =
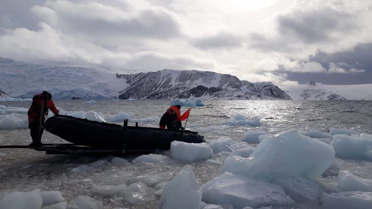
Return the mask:
<svg viewBox="0 0 372 209">
<path fill-rule="evenodd" d="M 372 100 L 372 84 L 280 86 L 294 100 Z"/>
</svg>

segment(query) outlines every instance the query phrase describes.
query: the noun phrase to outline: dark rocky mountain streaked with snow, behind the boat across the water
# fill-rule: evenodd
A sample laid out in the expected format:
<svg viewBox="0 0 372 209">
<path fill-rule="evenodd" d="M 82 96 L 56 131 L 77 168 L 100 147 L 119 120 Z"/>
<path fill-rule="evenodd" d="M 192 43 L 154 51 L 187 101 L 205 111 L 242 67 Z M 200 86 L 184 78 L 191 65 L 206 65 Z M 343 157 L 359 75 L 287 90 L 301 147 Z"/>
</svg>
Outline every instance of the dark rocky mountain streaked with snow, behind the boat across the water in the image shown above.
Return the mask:
<svg viewBox="0 0 372 209">
<path fill-rule="evenodd" d="M 117 74 L 126 83 L 120 99 L 175 99 L 194 96 L 209 100 L 292 98 L 271 82 L 251 83 L 228 74 L 198 70 L 159 70 Z"/>
</svg>

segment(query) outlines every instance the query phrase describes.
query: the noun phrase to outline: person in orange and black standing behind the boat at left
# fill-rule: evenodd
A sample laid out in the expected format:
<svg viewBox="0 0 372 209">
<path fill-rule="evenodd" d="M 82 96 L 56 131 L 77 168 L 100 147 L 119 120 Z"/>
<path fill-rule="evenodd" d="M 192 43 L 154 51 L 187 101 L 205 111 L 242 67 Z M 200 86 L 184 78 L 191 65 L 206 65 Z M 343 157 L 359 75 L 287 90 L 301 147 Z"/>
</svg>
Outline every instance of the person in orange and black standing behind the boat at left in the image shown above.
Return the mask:
<svg viewBox="0 0 372 209">
<path fill-rule="evenodd" d="M 32 104 L 27 112 L 32 138 L 32 143 L 30 145 L 41 145 L 41 135 L 44 131 L 42 125 L 44 124 L 45 115 L 48 114 L 49 109 L 52 110 L 54 115 L 58 115 L 58 109 L 54 105 L 52 95 L 49 92 L 43 91 L 41 94 L 37 94 L 32 98 Z M 41 111 L 43 111 L 43 113 L 41 113 Z M 42 116 L 41 119 L 40 116 Z"/>
</svg>

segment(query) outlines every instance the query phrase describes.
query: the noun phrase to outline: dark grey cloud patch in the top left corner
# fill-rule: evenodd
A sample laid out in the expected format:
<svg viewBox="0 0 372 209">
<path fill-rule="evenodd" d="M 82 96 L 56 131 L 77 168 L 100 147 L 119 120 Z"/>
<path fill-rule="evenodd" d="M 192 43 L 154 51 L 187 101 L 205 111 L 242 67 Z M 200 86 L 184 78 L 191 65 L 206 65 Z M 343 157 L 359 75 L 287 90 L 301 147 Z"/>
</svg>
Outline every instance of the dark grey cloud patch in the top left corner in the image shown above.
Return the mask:
<svg viewBox="0 0 372 209">
<path fill-rule="evenodd" d="M 0 28 L 15 29 L 27 28 L 29 30 L 37 29 L 39 18 L 35 16 L 31 7 L 36 4 L 42 4 L 45 0 L 16 0 L 0 1 Z"/>
</svg>

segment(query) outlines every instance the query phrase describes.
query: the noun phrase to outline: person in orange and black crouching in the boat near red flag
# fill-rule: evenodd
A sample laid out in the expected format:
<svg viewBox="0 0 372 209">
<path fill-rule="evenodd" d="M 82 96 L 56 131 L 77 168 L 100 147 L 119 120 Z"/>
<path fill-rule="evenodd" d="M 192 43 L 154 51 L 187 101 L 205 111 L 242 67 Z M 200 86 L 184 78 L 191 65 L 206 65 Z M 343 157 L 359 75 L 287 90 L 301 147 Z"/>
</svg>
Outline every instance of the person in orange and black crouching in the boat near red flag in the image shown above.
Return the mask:
<svg viewBox="0 0 372 209">
<path fill-rule="evenodd" d="M 159 128 L 164 129 L 167 126 L 167 129 L 180 129 L 182 127 L 180 110 L 181 105 L 179 104 L 170 106 L 161 116 Z"/>
</svg>

